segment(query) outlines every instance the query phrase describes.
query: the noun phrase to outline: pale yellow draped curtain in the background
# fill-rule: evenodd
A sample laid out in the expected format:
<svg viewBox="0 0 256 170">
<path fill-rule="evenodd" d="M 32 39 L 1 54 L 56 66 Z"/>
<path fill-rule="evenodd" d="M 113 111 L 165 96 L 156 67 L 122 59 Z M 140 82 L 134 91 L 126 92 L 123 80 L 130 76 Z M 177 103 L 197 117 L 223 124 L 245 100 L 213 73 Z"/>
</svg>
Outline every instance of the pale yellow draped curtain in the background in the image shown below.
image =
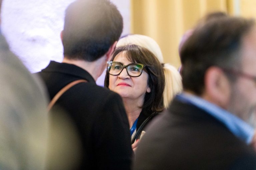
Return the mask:
<svg viewBox="0 0 256 170">
<path fill-rule="evenodd" d="M 255 0 L 131 0 L 131 33 L 158 42 L 165 63 L 180 66 L 178 44 L 184 32 L 208 12 L 252 17 Z"/>
</svg>

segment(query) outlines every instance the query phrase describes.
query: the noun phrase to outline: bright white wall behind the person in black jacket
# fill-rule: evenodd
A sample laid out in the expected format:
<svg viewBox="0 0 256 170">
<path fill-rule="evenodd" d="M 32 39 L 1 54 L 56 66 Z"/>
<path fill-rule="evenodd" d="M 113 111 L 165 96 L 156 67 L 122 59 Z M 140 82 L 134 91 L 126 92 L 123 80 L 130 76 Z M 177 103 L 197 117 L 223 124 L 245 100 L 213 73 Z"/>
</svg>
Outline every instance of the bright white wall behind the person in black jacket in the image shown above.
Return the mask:
<svg viewBox="0 0 256 170">
<path fill-rule="evenodd" d="M 74 0 L 4 0 L 1 31 L 11 50 L 31 72 L 50 60 L 62 61 L 60 32 L 65 8 Z M 123 35 L 130 33 L 130 0 L 111 0 L 124 18 Z"/>
</svg>

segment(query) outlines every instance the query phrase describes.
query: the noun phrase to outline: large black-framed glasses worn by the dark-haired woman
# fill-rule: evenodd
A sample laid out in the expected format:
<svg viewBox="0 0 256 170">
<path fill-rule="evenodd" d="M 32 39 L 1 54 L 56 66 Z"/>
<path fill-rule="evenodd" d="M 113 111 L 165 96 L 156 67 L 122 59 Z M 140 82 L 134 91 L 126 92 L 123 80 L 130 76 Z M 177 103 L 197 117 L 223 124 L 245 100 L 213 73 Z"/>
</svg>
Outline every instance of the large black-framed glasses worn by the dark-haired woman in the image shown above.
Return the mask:
<svg viewBox="0 0 256 170">
<path fill-rule="evenodd" d="M 130 63 L 128 65 L 123 65 L 121 62 L 108 61 L 108 73 L 113 76 L 119 75 L 124 68 L 126 72 L 131 77 L 139 77 L 142 74 L 143 69 L 145 68 L 144 64 L 140 63 Z"/>
</svg>

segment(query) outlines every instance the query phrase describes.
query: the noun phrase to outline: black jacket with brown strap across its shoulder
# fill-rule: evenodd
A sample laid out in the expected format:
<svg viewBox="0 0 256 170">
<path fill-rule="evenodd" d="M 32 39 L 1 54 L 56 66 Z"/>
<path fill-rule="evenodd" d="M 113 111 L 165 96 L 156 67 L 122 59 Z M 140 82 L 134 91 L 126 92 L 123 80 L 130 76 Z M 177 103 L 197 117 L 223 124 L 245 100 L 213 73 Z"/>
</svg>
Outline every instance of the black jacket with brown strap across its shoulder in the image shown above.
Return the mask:
<svg viewBox="0 0 256 170">
<path fill-rule="evenodd" d="M 78 129 L 82 142 L 79 169 L 130 169 L 129 123 L 121 97 L 97 86 L 87 71 L 72 64 L 51 61 L 39 74 L 50 99 L 74 80 L 88 81 L 71 87 L 55 104 Z"/>
</svg>

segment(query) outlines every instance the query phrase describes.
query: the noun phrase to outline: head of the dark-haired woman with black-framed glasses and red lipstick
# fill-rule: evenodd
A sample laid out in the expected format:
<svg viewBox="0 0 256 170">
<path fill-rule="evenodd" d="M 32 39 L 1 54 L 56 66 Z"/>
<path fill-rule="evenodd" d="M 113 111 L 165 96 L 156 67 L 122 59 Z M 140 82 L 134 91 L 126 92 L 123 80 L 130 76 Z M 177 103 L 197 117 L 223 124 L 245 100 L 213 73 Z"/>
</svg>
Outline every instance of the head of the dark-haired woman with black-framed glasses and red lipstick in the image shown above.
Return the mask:
<svg viewBox="0 0 256 170">
<path fill-rule="evenodd" d="M 163 110 L 164 73 L 161 63 L 152 52 L 134 44 L 120 46 L 115 49 L 111 61 L 105 87 L 117 92 L 122 98 L 141 102 L 140 107 L 143 109 L 153 112 Z"/>
</svg>

